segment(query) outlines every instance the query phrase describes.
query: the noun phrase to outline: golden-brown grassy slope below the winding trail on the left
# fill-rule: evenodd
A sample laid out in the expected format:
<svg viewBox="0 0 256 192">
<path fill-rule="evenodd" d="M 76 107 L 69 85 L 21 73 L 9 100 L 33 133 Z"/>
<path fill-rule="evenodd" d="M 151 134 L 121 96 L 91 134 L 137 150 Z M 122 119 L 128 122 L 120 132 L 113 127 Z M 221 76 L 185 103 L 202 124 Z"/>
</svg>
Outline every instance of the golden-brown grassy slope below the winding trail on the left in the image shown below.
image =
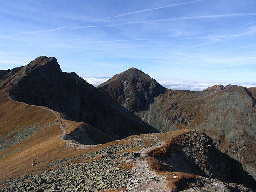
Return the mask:
<svg viewBox="0 0 256 192">
<path fill-rule="evenodd" d="M 21 142 L 10 145 L 11 147 L 0 152 L 0 180 L 26 174 L 37 168 L 48 166 L 52 161 L 84 153 L 81 149 L 67 148 L 65 142 L 60 140 L 62 135 L 60 119 L 51 111 L 9 100 L 3 91 L 0 91 L 0 98 L 0 138 L 2 141 L 15 136 L 18 131 L 35 123 L 37 123 L 35 127 L 43 127 L 58 121 L 39 129 Z M 71 126 L 67 131 L 70 132 L 78 124 L 80 122 L 72 124 L 69 122 Z M 19 127 L 21 128 L 18 129 Z M 18 131 L 13 131 L 16 129 Z M 13 133 L 8 135 L 9 131 Z M 33 163 L 34 166 L 32 166 Z"/>
</svg>

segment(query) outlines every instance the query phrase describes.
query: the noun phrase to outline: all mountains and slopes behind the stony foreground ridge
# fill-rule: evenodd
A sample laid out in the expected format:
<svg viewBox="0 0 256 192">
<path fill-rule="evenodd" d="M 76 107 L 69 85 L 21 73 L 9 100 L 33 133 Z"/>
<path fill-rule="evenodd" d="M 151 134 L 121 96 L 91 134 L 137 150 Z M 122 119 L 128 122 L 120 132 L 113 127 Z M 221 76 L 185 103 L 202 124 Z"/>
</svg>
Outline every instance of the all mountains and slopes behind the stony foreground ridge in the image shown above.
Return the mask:
<svg viewBox="0 0 256 192">
<path fill-rule="evenodd" d="M 183 129 L 209 135 L 218 150 L 256 179 L 255 98 L 256 88 L 237 85 L 171 90 L 135 68 L 94 87 L 74 72 L 62 72 L 54 57 L 38 57 L 0 70 L 0 180 L 39 169 L 37 156 L 46 165 L 83 153 L 64 149 L 64 141 L 69 147 L 95 145 Z M 54 155 L 46 160 L 49 151 Z M 22 167 L 17 157 L 35 167 Z"/>
</svg>

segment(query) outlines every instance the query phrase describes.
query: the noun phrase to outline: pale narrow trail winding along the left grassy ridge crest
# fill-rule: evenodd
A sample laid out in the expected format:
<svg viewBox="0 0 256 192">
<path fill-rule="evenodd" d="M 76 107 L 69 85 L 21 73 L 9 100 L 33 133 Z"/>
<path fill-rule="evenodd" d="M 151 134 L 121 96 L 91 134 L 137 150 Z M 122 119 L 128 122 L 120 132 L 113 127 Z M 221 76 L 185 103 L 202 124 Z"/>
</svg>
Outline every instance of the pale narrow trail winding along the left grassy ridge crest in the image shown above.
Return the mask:
<svg viewBox="0 0 256 192">
<path fill-rule="evenodd" d="M 67 147 L 70 146 L 70 144 L 69 144 L 70 142 L 69 142 L 68 140 L 64 140 L 64 139 L 63 139 L 64 135 L 66 135 L 66 130 L 65 130 L 66 126 L 65 126 L 65 123 L 64 123 L 64 119 L 63 119 L 60 115 L 58 115 L 56 111 L 54 111 L 54 110 L 52 110 L 52 109 L 49 109 L 48 107 L 37 106 L 37 105 L 30 105 L 30 104 L 27 104 L 27 103 L 24 103 L 24 102 L 20 102 L 20 101 L 13 100 L 13 99 L 10 97 L 9 92 L 8 92 L 5 88 L 3 88 L 3 91 L 4 91 L 4 93 L 8 96 L 9 100 L 12 100 L 13 102 L 22 103 L 22 104 L 29 105 L 29 106 L 33 106 L 33 107 L 38 107 L 38 108 L 40 108 L 40 109 L 45 109 L 45 110 L 48 110 L 48 111 L 52 112 L 53 115 L 54 115 L 57 119 L 60 120 L 60 129 L 61 129 L 61 131 L 62 131 L 62 135 L 61 135 L 61 137 L 60 137 L 60 140 L 65 141 L 65 144 L 66 144 Z"/>
</svg>

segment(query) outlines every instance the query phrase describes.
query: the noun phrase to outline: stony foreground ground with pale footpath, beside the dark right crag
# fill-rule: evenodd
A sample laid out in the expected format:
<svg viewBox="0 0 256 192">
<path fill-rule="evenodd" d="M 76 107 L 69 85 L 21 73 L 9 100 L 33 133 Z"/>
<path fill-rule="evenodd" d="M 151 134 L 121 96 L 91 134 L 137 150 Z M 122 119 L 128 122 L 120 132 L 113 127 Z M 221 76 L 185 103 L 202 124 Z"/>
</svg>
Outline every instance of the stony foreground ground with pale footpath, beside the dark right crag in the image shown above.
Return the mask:
<svg viewBox="0 0 256 192">
<path fill-rule="evenodd" d="M 155 138 L 128 138 L 91 153 L 54 161 L 47 169 L 0 183 L 0 192 L 253 192 L 243 185 L 214 178 L 182 180 L 180 175 L 184 173 L 157 174 L 147 161 L 147 152 L 164 144 Z M 179 178 L 177 188 L 168 187 Z"/>
</svg>

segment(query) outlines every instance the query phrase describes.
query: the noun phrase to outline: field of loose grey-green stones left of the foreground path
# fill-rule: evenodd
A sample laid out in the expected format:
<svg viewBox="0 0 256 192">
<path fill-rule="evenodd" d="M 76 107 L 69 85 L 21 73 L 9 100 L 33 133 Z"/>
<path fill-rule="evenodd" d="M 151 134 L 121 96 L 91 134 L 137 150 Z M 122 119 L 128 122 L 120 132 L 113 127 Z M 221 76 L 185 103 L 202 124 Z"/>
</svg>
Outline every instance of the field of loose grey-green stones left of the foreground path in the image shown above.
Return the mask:
<svg viewBox="0 0 256 192">
<path fill-rule="evenodd" d="M 114 145 L 79 157 L 66 158 L 52 163 L 43 173 L 26 175 L 4 182 L 1 192 L 97 192 L 126 188 L 132 179 L 132 170 L 122 165 L 137 153 L 116 153 L 139 147 L 141 141 L 129 145 Z M 83 159 L 83 162 L 70 162 Z M 86 160 L 87 159 L 87 160 Z M 54 168 L 56 167 L 56 168 Z"/>
</svg>

